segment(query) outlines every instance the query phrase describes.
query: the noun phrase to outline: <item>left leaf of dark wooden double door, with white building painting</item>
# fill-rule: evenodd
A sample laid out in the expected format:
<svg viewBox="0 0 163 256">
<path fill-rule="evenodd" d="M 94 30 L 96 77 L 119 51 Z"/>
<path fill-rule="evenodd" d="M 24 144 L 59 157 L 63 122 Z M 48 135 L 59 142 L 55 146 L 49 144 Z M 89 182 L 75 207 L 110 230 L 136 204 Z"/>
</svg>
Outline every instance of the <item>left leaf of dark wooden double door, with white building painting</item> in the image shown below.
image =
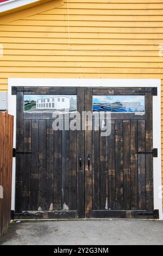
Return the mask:
<svg viewBox="0 0 163 256">
<path fill-rule="evenodd" d="M 24 112 L 25 95 L 30 104 L 35 95 L 74 95 L 84 111 L 84 88 L 17 87 L 15 216 L 84 218 L 84 131 L 54 131 L 52 113 Z"/>
</svg>

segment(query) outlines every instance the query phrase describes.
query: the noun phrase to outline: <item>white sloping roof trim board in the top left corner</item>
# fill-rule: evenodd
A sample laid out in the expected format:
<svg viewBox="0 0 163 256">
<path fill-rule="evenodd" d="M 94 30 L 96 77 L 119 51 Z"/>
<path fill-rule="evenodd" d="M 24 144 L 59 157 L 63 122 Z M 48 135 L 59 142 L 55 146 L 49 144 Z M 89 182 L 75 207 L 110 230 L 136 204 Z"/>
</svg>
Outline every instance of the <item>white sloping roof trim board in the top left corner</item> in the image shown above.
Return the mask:
<svg viewBox="0 0 163 256">
<path fill-rule="evenodd" d="M 3 13 L 3 11 L 9 11 L 39 1 L 40 0 L 9 0 L 7 2 L 2 2 L 0 3 L 0 13 Z"/>
</svg>

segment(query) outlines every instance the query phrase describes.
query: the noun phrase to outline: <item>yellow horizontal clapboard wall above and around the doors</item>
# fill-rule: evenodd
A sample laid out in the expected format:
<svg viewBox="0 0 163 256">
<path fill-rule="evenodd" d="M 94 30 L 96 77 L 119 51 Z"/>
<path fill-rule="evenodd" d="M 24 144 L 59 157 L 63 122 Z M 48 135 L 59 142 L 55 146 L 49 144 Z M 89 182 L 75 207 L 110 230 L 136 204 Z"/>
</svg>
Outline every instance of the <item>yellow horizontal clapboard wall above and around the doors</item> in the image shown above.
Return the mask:
<svg viewBox="0 0 163 256">
<path fill-rule="evenodd" d="M 8 77 L 161 78 L 163 109 L 163 0 L 52 2 L 0 18 L 0 91 Z"/>
</svg>

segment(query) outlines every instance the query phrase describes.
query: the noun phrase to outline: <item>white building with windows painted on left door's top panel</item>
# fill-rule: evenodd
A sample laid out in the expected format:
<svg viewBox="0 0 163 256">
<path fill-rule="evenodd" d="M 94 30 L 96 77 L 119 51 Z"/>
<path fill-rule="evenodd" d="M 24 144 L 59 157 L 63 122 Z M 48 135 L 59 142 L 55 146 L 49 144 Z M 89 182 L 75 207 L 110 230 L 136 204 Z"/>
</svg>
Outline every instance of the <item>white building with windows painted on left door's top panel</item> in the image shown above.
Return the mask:
<svg viewBox="0 0 163 256">
<path fill-rule="evenodd" d="M 68 109 L 70 99 L 66 96 L 54 96 L 36 101 L 37 109 Z"/>
</svg>

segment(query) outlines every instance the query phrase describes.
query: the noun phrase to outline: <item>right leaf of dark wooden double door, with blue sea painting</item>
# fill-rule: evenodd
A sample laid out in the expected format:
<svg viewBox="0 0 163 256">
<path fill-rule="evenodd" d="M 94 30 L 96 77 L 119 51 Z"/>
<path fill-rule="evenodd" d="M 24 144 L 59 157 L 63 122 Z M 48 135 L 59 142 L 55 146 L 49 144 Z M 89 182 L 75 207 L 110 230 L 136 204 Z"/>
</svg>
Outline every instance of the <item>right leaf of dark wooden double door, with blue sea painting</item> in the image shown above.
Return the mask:
<svg viewBox="0 0 163 256">
<path fill-rule="evenodd" d="M 86 111 L 103 95 L 142 95 L 145 112 L 111 112 L 108 137 L 85 132 L 85 216 L 153 218 L 152 88 L 86 88 Z"/>
</svg>

